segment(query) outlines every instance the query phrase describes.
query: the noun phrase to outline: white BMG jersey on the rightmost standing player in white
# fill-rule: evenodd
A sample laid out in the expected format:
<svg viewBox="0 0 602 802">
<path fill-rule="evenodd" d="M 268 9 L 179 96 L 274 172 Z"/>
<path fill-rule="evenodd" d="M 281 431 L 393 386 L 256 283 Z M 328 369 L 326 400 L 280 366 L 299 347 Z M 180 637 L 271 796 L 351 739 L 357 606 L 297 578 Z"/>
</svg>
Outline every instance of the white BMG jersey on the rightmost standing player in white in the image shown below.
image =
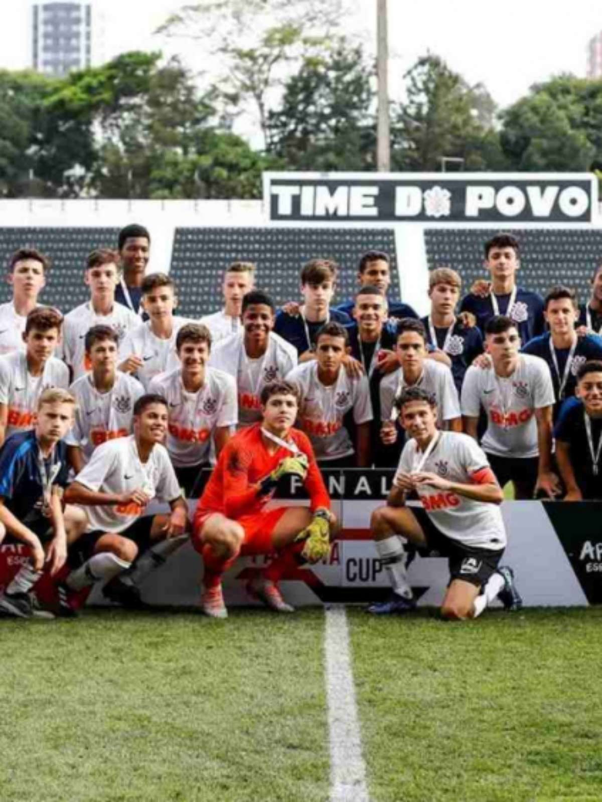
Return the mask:
<svg viewBox="0 0 602 802">
<path fill-rule="evenodd" d="M 484 407 L 487 430 L 481 445 L 495 456 L 537 456 L 535 410 L 554 401 L 550 368 L 531 354 L 520 354 L 515 372 L 506 379 L 497 376 L 493 366 L 473 365 L 462 384 L 462 415 L 478 418 Z"/>
</svg>

